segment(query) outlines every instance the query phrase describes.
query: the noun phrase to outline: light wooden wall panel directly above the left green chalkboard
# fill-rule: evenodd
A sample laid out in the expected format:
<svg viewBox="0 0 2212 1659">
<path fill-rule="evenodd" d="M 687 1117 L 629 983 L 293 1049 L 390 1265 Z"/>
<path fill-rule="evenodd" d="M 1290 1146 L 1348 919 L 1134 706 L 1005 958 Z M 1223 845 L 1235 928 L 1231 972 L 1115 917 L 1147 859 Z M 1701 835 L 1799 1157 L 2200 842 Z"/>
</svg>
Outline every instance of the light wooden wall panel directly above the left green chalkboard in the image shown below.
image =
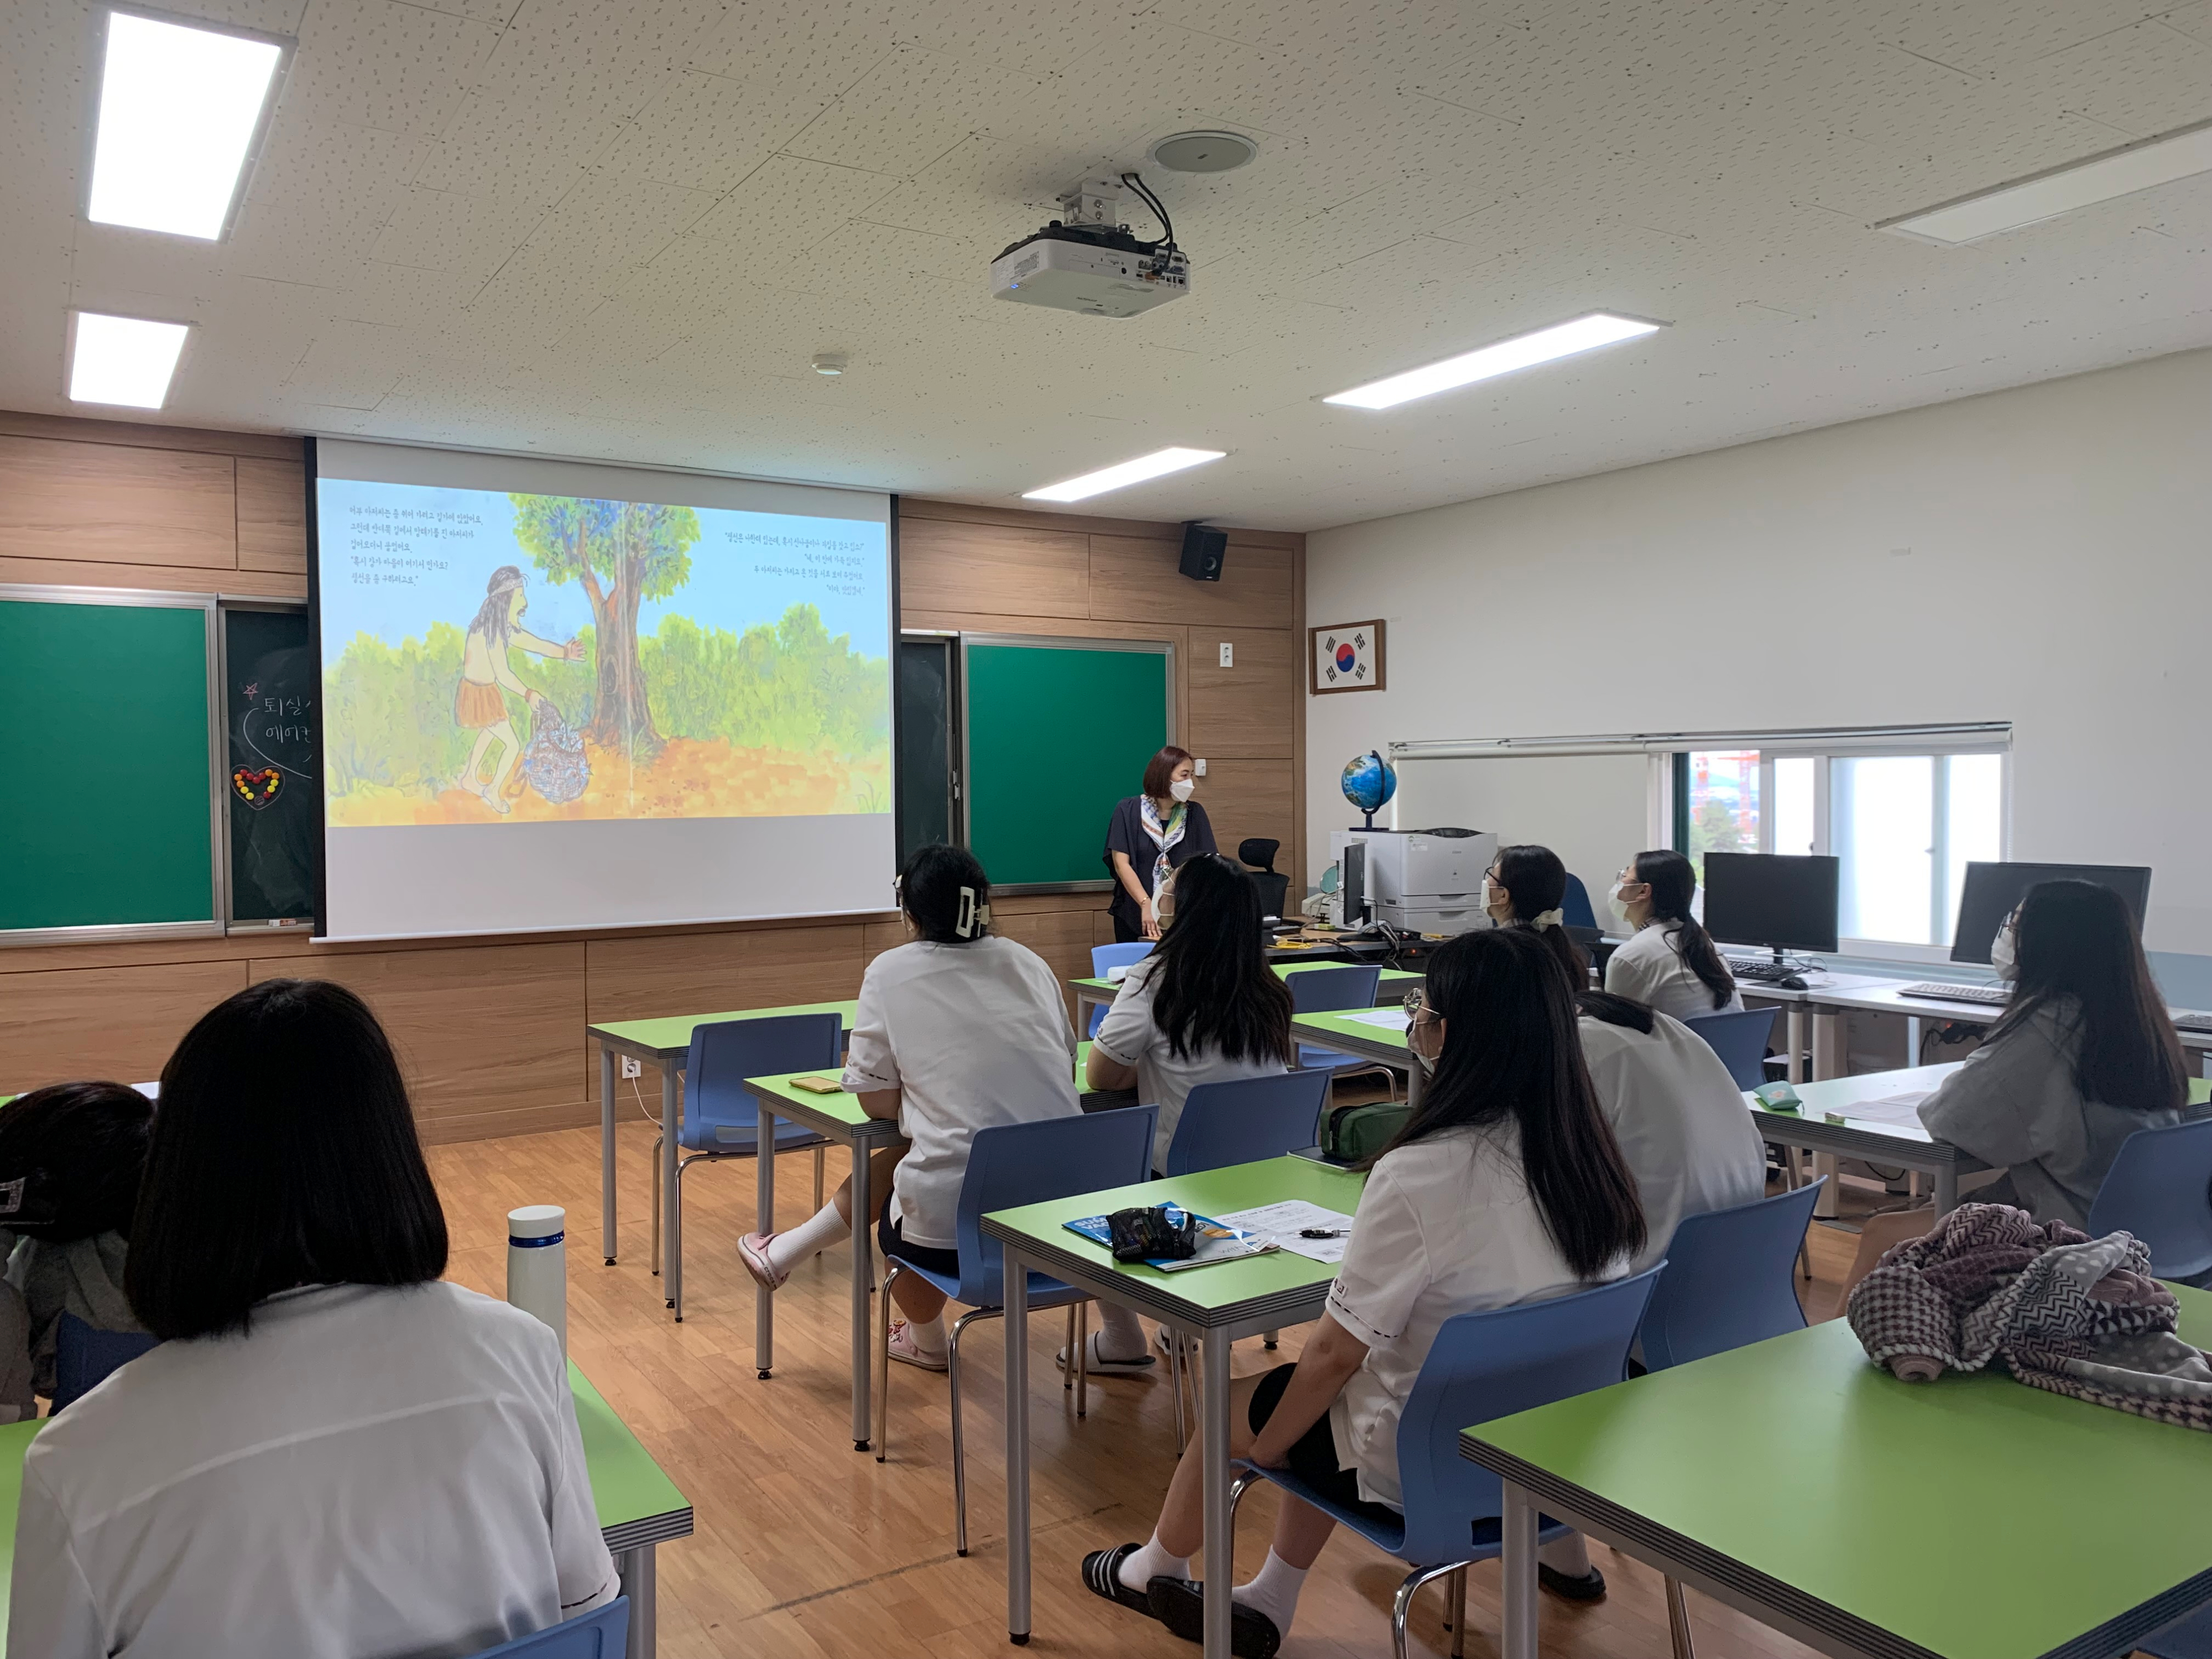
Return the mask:
<svg viewBox="0 0 2212 1659">
<path fill-rule="evenodd" d="M 0 436 L 0 557 L 239 568 L 230 456 Z"/>
</svg>

